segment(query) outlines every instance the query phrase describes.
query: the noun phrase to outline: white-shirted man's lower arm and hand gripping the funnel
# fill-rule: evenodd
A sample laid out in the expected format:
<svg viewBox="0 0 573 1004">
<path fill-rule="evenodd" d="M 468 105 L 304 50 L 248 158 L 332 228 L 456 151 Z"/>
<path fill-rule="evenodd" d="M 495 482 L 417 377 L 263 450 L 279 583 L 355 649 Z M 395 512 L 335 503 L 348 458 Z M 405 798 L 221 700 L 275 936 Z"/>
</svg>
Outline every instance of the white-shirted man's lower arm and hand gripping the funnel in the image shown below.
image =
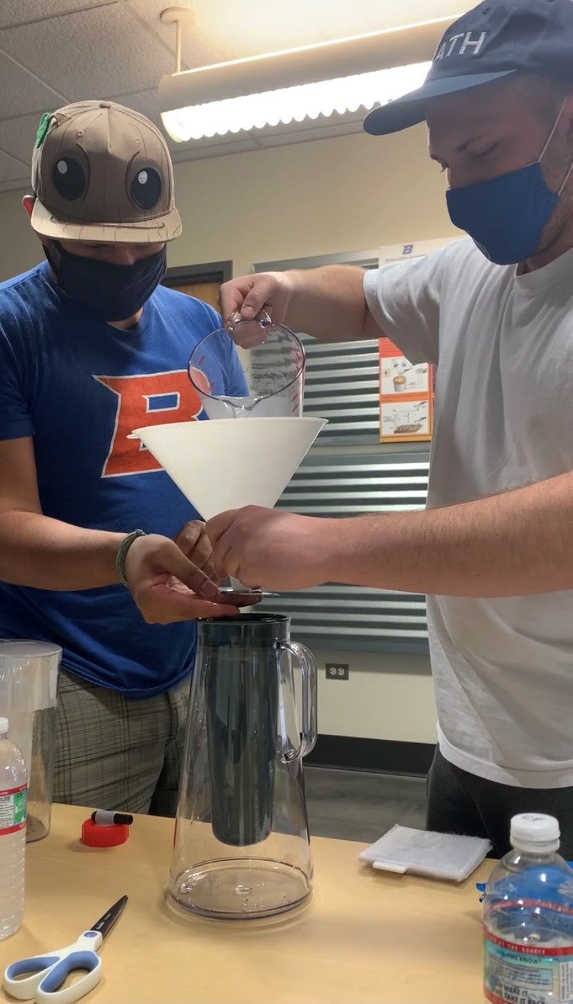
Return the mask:
<svg viewBox="0 0 573 1004">
<path fill-rule="evenodd" d="M 414 513 L 314 519 L 250 507 L 207 525 L 215 559 L 243 582 L 322 582 L 453 596 L 573 589 L 573 473 Z"/>
</svg>

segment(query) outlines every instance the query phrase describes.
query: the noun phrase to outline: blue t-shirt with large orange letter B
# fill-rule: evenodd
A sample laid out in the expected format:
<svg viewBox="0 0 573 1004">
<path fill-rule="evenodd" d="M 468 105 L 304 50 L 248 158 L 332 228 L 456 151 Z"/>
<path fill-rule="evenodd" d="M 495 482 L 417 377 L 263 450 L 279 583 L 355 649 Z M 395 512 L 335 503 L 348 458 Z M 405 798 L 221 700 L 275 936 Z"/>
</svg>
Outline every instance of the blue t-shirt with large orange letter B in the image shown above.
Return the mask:
<svg viewBox="0 0 573 1004">
<path fill-rule="evenodd" d="M 138 323 L 120 330 L 63 296 L 47 263 L 0 285 L 0 440 L 33 436 L 44 515 L 169 537 L 197 518 L 127 437 L 140 426 L 206 418 L 187 363 L 220 325 L 203 301 L 160 286 Z M 243 394 L 231 339 L 215 353 L 214 393 Z M 196 626 L 146 623 L 121 585 L 62 592 L 0 582 L 2 636 L 60 645 L 62 665 L 77 676 L 151 697 L 191 672 Z"/>
</svg>

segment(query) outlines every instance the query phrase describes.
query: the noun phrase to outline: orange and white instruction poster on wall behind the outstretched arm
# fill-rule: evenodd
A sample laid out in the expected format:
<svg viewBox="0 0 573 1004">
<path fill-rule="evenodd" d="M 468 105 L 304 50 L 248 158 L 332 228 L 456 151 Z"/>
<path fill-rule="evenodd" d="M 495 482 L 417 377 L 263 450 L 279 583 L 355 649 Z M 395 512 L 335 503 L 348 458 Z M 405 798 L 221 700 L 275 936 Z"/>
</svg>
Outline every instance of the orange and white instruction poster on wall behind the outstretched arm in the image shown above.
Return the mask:
<svg viewBox="0 0 573 1004">
<path fill-rule="evenodd" d="M 453 238 L 456 239 L 456 238 Z M 380 249 L 379 263 L 414 262 L 452 241 L 418 241 Z M 432 439 L 436 367 L 412 364 L 389 338 L 379 340 L 380 443 L 423 443 Z"/>
</svg>

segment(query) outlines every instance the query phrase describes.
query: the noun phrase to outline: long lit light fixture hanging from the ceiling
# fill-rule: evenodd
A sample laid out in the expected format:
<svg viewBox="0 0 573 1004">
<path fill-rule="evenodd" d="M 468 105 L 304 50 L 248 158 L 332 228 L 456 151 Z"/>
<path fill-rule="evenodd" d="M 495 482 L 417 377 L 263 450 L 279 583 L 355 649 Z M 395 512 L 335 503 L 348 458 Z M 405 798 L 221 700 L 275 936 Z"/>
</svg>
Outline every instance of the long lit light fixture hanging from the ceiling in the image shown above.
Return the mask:
<svg viewBox="0 0 573 1004">
<path fill-rule="evenodd" d="M 183 14 L 190 11 L 161 15 L 177 27 L 176 72 L 160 81 L 162 119 L 176 143 L 385 104 L 422 83 L 428 56 L 460 16 L 182 70 Z"/>
</svg>

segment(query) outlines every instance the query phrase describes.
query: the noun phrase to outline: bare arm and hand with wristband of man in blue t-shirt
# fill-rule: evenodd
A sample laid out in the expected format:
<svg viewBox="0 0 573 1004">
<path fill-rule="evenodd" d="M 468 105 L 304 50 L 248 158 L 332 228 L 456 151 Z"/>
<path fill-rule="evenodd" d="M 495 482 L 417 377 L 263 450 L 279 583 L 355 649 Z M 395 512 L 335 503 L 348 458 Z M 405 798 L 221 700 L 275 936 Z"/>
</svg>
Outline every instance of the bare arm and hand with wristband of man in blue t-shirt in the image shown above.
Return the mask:
<svg viewBox="0 0 573 1004">
<path fill-rule="evenodd" d="M 117 584 L 115 558 L 125 536 L 44 516 L 31 437 L 0 441 L 1 580 L 53 590 Z M 177 541 L 160 534 L 137 538 L 124 567 L 150 623 L 238 613 L 209 577 L 215 573 L 211 547 L 197 521 L 187 524 Z"/>
</svg>

